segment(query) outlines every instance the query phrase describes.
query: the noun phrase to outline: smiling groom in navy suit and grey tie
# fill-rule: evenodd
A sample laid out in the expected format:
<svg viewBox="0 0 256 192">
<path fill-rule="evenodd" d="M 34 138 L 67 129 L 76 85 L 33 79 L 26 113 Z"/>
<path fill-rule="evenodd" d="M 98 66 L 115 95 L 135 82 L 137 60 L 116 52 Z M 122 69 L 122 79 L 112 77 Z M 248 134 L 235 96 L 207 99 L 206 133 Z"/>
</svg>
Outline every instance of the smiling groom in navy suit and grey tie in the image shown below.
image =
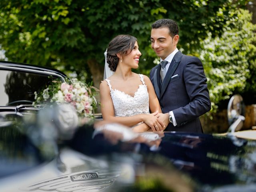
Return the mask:
<svg viewBox="0 0 256 192">
<path fill-rule="evenodd" d="M 151 47 L 160 64 L 150 71 L 163 114 L 165 131 L 202 133 L 199 116 L 211 109 L 202 62 L 177 49 L 179 29 L 174 20 L 160 19 L 152 24 Z"/>
</svg>

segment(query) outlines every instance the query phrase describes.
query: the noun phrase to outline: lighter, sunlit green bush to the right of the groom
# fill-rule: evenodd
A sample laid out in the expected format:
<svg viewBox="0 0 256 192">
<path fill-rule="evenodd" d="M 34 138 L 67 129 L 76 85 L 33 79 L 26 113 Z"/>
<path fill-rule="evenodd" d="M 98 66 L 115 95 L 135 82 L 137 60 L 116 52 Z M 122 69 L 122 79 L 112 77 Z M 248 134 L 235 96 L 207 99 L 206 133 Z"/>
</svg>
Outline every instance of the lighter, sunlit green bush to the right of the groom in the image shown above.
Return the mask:
<svg viewBox="0 0 256 192">
<path fill-rule="evenodd" d="M 212 107 L 215 111 L 222 100 L 245 90 L 256 94 L 256 25 L 248 10 L 238 9 L 236 17 L 225 25 L 221 36 L 200 42 L 198 52 L 208 78 Z M 233 26 L 232 28 L 230 26 Z"/>
</svg>

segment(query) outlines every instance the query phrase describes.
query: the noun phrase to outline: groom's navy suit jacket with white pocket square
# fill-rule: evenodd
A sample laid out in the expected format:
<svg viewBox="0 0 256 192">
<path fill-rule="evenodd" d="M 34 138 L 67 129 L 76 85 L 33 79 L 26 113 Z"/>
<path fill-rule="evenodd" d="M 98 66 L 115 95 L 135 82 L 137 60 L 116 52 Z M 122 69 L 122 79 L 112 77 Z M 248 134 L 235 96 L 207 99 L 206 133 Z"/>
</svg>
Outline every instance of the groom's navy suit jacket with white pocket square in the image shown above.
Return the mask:
<svg viewBox="0 0 256 192">
<path fill-rule="evenodd" d="M 204 68 L 199 58 L 178 51 L 160 82 L 160 64 L 150 71 L 163 113 L 173 111 L 177 126 L 169 123 L 166 131 L 202 132 L 199 116 L 211 109 Z"/>
</svg>

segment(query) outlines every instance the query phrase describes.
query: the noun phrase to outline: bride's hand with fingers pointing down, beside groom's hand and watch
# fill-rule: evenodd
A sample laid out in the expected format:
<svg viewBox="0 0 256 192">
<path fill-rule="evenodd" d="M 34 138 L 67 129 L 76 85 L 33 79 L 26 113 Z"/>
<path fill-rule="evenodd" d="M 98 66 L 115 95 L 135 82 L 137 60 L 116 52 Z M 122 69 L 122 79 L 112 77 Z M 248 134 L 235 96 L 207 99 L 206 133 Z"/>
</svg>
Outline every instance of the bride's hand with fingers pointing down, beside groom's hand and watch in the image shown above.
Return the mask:
<svg viewBox="0 0 256 192">
<path fill-rule="evenodd" d="M 163 130 L 163 124 L 158 120 L 158 111 L 147 114 L 146 118 L 144 119 L 144 122 L 151 127 L 152 131 L 162 131 Z"/>
</svg>

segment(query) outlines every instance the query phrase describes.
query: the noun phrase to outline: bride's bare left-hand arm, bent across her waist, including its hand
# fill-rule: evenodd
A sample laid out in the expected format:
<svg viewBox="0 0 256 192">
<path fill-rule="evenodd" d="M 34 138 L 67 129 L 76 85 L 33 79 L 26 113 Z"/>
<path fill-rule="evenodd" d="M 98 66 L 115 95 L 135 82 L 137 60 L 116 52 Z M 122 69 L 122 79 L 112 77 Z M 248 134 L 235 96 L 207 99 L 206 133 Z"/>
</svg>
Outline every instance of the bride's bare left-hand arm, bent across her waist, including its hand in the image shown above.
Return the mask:
<svg viewBox="0 0 256 192">
<path fill-rule="evenodd" d="M 114 105 L 110 96 L 110 88 L 106 81 L 100 83 L 100 107 L 102 112 L 102 118 L 110 122 L 120 123 L 129 127 L 132 127 L 140 122 L 145 122 L 154 129 L 154 125 L 161 125 L 158 123 L 158 112 L 152 114 L 139 114 L 129 117 L 116 117 L 114 115 Z"/>
</svg>

